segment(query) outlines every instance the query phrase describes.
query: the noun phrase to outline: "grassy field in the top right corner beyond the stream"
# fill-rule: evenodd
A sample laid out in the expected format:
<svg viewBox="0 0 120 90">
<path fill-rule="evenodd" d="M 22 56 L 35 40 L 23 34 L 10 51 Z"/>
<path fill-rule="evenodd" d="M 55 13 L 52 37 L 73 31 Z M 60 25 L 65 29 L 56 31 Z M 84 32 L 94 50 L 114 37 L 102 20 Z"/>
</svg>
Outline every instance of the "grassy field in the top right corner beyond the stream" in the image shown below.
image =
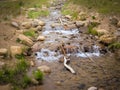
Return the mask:
<svg viewBox="0 0 120 90">
<path fill-rule="evenodd" d="M 120 0 L 69 0 L 69 2 L 97 10 L 103 14 L 120 14 Z"/>
</svg>

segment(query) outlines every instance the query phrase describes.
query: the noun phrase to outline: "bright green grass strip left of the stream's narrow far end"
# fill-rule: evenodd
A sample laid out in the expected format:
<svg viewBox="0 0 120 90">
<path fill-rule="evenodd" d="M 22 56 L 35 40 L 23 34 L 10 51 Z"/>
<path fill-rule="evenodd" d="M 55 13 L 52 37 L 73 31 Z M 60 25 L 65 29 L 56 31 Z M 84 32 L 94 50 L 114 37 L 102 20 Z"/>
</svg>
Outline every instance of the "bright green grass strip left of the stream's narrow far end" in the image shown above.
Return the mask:
<svg viewBox="0 0 120 90">
<path fill-rule="evenodd" d="M 28 17 L 29 18 L 32 18 L 32 19 L 35 19 L 35 18 L 38 18 L 40 16 L 42 17 L 46 17 L 49 15 L 49 11 L 48 10 L 41 10 L 41 11 L 29 11 L 28 12 Z"/>
</svg>

